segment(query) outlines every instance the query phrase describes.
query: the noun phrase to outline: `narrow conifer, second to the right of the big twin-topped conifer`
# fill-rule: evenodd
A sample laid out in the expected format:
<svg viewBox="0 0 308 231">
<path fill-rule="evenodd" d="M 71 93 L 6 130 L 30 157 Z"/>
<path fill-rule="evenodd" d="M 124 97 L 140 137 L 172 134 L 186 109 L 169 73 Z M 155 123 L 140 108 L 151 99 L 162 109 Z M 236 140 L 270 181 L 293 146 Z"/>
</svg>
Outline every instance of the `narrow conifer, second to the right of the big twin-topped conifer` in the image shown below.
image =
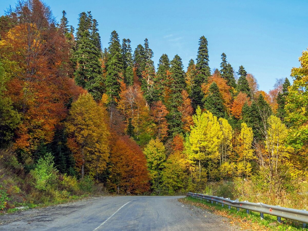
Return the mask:
<svg viewBox="0 0 308 231">
<path fill-rule="evenodd" d="M 122 58 L 124 69 L 124 82 L 128 85 L 132 85 L 134 81 L 133 73 L 133 59 L 132 59 L 132 47 L 130 39 L 122 40 Z"/>
</svg>

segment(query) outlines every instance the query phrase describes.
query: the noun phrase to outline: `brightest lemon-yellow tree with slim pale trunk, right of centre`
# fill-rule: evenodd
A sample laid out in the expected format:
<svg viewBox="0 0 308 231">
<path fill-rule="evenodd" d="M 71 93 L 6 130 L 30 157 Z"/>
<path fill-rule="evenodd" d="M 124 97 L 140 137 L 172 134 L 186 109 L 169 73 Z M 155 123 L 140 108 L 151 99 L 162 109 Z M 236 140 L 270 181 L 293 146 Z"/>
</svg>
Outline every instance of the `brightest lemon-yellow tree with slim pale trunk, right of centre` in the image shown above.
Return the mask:
<svg viewBox="0 0 308 231">
<path fill-rule="evenodd" d="M 201 160 L 218 159 L 219 144 L 223 138 L 217 117 L 211 112 L 201 113 L 198 106 L 193 115 L 194 126 L 191 127 L 189 142 L 191 152 L 188 158 L 199 162 L 199 180 L 201 178 Z"/>
</svg>

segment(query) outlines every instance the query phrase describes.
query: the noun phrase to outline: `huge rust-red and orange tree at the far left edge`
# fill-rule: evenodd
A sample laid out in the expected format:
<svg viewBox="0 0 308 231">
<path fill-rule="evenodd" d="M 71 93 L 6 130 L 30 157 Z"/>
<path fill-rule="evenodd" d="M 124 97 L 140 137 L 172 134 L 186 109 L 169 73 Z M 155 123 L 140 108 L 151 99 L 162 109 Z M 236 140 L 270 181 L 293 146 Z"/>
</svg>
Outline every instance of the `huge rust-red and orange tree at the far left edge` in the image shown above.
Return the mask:
<svg viewBox="0 0 308 231">
<path fill-rule="evenodd" d="M 67 77 L 72 73 L 70 47 L 54 26 L 49 7 L 38 0 L 18 2 L 14 14 L 19 24 L 3 34 L 0 55 L 19 67 L 6 94 L 23 115 L 15 146 L 30 151 L 51 142 L 76 88 Z"/>
</svg>

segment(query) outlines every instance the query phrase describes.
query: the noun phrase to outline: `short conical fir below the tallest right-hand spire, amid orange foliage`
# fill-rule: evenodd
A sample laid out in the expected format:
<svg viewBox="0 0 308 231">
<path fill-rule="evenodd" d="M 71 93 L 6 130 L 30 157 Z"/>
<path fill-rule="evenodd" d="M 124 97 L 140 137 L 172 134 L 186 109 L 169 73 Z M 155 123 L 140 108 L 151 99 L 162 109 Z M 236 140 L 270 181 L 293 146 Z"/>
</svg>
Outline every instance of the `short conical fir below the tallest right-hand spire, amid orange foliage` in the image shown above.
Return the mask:
<svg viewBox="0 0 308 231">
<path fill-rule="evenodd" d="M 209 88 L 209 94 L 204 98 L 204 108 L 216 115 L 223 118 L 225 116 L 224 102 L 221 98 L 219 88 L 213 82 Z"/>
</svg>

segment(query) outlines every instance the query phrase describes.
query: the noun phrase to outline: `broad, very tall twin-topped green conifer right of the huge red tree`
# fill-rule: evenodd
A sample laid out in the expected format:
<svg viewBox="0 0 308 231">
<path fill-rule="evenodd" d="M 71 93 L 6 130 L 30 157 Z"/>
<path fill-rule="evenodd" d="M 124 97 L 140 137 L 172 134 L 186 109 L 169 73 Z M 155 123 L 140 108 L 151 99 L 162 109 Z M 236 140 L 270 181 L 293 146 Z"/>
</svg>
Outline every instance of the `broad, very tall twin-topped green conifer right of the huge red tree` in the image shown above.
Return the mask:
<svg viewBox="0 0 308 231">
<path fill-rule="evenodd" d="M 93 23 L 91 12 L 79 14 L 79 24 L 76 33 L 75 82 L 85 88 L 94 99 L 103 94 L 103 77 L 100 62 L 100 37 L 97 32 L 97 22 Z M 94 30 L 94 33 L 93 33 Z"/>
</svg>

